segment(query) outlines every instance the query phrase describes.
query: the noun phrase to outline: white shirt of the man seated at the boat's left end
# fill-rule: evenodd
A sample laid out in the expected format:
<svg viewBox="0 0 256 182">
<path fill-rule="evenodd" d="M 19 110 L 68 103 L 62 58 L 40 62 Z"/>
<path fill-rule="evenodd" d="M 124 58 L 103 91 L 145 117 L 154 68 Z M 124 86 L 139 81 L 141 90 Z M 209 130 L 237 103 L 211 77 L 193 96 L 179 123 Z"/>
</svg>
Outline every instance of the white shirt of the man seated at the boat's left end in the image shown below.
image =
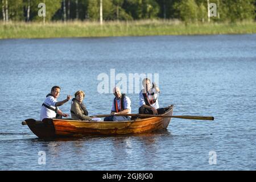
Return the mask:
<svg viewBox="0 0 256 182">
<path fill-rule="evenodd" d="M 44 101 L 44 104 L 51 106 L 53 109 L 55 109 L 55 104 L 57 100 L 53 96 L 46 97 L 46 100 Z M 40 120 L 42 121 L 44 118 L 55 118 L 56 113 L 55 111 L 48 109 L 45 106 L 41 107 L 41 113 L 40 113 Z"/>
</svg>

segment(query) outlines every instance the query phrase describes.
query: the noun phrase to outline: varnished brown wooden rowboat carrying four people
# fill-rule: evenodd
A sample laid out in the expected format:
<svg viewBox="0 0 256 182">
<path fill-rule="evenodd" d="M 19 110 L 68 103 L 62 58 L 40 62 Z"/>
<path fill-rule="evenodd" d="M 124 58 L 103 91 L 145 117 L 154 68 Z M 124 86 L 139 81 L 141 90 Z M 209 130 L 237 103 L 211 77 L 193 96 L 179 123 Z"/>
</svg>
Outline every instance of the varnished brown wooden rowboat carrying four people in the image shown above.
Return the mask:
<svg viewBox="0 0 256 182">
<path fill-rule="evenodd" d="M 165 108 L 163 116 L 171 116 L 174 105 Z M 75 121 L 72 119 L 45 118 L 25 120 L 30 130 L 39 138 L 53 137 L 82 137 L 84 135 L 119 135 L 148 133 L 155 130 L 167 129 L 171 118 L 147 117 L 135 118 L 131 121 Z"/>
</svg>

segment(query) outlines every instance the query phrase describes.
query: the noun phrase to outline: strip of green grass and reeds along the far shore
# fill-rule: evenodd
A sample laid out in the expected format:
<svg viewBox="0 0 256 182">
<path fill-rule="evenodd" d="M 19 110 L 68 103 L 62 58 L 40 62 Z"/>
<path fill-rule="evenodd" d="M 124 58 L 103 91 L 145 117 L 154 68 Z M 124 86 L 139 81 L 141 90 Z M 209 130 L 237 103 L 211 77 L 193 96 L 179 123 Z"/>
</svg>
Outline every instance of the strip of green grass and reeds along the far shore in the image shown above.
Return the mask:
<svg viewBox="0 0 256 182">
<path fill-rule="evenodd" d="M 0 39 L 208 34 L 256 34 L 256 22 L 185 25 L 173 20 L 141 20 L 105 22 L 102 26 L 98 22 L 0 22 Z"/>
</svg>

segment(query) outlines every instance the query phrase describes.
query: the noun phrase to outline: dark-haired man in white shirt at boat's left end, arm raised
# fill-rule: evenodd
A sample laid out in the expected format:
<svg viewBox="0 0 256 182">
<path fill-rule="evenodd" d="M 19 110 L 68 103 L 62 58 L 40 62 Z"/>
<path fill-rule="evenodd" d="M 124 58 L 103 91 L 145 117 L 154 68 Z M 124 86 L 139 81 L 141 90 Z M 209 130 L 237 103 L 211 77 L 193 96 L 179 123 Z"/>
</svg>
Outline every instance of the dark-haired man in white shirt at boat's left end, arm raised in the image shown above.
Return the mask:
<svg viewBox="0 0 256 182">
<path fill-rule="evenodd" d="M 60 94 L 60 87 L 53 86 L 51 89 L 51 93 L 46 96 L 46 100 L 41 107 L 40 120 L 42 121 L 44 118 L 55 118 L 56 114 L 61 117 L 68 117 L 68 114 L 63 113 L 57 106 L 61 106 L 68 102 L 72 96 L 67 96 L 67 99 L 57 102 L 57 97 Z"/>
</svg>

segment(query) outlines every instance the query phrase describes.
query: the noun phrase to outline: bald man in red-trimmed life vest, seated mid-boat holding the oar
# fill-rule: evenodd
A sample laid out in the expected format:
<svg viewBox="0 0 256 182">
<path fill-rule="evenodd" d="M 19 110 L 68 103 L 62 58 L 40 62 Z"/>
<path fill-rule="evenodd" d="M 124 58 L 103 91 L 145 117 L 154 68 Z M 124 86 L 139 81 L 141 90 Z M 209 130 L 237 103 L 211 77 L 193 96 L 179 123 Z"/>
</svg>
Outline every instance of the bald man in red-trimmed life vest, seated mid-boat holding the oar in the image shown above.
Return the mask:
<svg viewBox="0 0 256 182">
<path fill-rule="evenodd" d="M 104 121 L 130 121 L 129 116 L 115 115 L 115 114 L 131 114 L 131 100 L 120 89 L 115 86 L 113 89 L 115 96 L 110 117 L 104 118 Z"/>
</svg>

